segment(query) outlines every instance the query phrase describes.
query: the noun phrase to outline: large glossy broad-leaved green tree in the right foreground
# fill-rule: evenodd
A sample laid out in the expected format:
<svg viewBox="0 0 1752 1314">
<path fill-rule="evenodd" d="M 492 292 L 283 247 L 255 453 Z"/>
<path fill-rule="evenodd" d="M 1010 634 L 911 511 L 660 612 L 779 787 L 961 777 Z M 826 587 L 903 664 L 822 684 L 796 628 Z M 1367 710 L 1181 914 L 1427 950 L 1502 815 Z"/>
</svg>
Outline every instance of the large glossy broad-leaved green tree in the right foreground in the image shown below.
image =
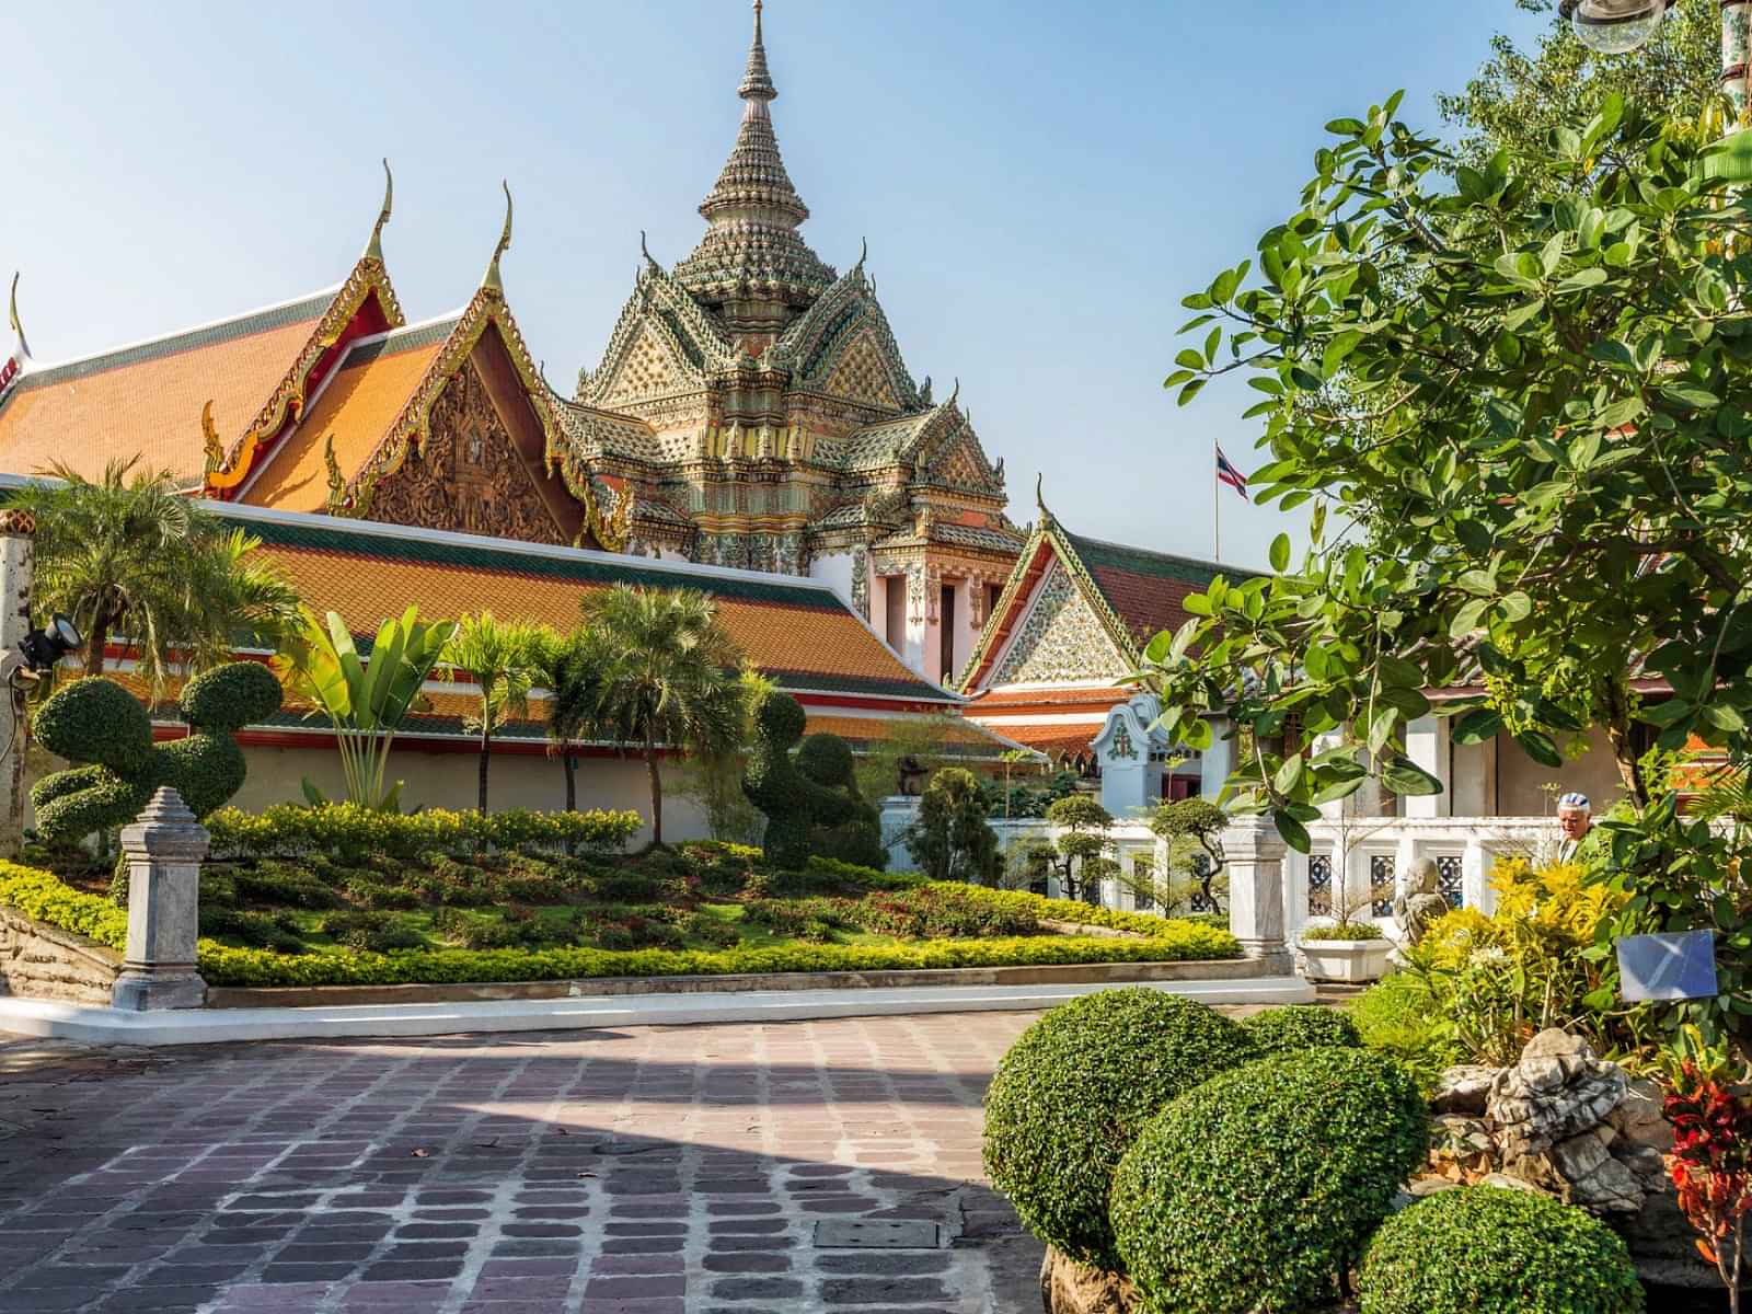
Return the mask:
<svg viewBox="0 0 1752 1314">
<path fill-rule="evenodd" d="M 1722 932 L 1722 1002 L 1671 1016 L 1743 1028 L 1745 904 L 1715 897 L 1740 888 L 1740 837 L 1682 816 L 1640 759 L 1647 736 L 1752 755 L 1752 205 L 1689 126 L 1615 96 L 1547 154 L 1482 168 L 1396 105 L 1330 124 L 1300 208 L 1260 240 L 1263 282 L 1242 265 L 1188 298 L 1200 342 L 1170 385 L 1247 370 L 1258 499 L 1321 501 L 1295 568 L 1279 536 L 1272 576 L 1186 599 L 1146 683 L 1193 746 L 1205 711 L 1253 734 L 1237 806 L 1303 851 L 1319 804 L 1370 776 L 1438 788 L 1402 752 L 1414 717 L 1547 766 L 1603 727 L 1640 809 L 1614 836 L 1629 916 Z M 1673 692 L 1643 701 L 1633 676 Z M 1468 682 L 1486 692 L 1424 696 Z M 1335 746 L 1274 750 L 1289 717 Z"/>
</svg>

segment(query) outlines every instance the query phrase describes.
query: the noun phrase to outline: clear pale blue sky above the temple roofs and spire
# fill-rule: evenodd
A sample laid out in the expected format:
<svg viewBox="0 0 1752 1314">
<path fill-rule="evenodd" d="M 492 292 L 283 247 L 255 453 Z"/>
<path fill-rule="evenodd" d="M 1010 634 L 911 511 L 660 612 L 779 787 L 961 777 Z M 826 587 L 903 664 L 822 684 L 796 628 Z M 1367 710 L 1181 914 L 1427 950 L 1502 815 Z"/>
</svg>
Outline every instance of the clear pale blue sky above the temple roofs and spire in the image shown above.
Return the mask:
<svg viewBox="0 0 1752 1314">
<path fill-rule="evenodd" d="M 774 117 L 804 235 L 867 268 L 915 377 L 962 396 L 1011 515 L 1034 473 L 1072 529 L 1211 550 L 1211 440 L 1177 410 L 1179 300 L 1295 208 L 1321 124 L 1407 88 L 1437 123 L 1510 0 L 769 0 Z M 734 137 L 745 0 L 60 4 L 7 16 L 0 268 L 40 361 L 338 282 L 396 170 L 410 319 L 468 300 L 517 198 L 512 307 L 548 377 L 594 366 L 638 266 L 697 242 Z M 1225 491 L 1223 555 L 1281 527 Z"/>
</svg>

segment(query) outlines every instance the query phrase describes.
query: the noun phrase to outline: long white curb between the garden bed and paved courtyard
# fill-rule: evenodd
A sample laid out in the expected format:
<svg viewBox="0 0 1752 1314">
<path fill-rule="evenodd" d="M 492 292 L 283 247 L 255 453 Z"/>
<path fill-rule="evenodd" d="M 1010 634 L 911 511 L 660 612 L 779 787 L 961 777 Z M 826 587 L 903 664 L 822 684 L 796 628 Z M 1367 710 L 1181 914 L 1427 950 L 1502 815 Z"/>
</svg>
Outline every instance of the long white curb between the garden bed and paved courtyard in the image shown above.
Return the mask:
<svg viewBox="0 0 1752 1314">
<path fill-rule="evenodd" d="M 0 997 L 0 1032 L 91 1044 L 217 1044 L 457 1032 L 538 1032 L 601 1027 L 888 1018 L 908 1013 L 1048 1009 L 1116 983 L 908 986 L 899 990 L 750 990 L 687 995 L 508 999 L 471 1004 L 389 1004 L 123 1013 L 88 1004 Z M 1312 1004 L 1300 976 L 1232 981 L 1151 981 L 1151 990 L 1202 1004 Z"/>
</svg>

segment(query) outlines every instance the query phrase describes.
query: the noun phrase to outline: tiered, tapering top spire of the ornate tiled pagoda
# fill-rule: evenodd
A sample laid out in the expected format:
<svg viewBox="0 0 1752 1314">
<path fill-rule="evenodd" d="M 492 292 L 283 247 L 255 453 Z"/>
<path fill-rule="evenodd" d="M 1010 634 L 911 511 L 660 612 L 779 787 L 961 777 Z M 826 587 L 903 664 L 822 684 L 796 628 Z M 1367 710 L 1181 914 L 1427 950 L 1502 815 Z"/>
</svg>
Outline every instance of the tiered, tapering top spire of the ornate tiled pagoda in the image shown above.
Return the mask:
<svg viewBox="0 0 1752 1314">
<path fill-rule="evenodd" d="M 675 277 L 732 331 L 773 335 L 834 282 L 834 272 L 797 235 L 809 207 L 785 172 L 773 133 L 769 105 L 778 88 L 767 68 L 760 0 L 736 95 L 743 98 L 736 145 L 699 205 L 706 237 L 676 265 Z"/>
</svg>

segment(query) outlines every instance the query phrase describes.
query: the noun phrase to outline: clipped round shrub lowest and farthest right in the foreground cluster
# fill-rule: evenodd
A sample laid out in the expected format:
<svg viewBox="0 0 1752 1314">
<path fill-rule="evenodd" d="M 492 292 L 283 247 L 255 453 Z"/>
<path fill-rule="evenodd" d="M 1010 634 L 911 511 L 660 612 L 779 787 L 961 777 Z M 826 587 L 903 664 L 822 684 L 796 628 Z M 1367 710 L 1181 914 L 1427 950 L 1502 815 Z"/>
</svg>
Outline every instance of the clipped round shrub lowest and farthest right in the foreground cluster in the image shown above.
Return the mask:
<svg viewBox="0 0 1752 1314">
<path fill-rule="evenodd" d="M 1361 1314 L 1638 1314 L 1624 1240 L 1544 1195 L 1459 1186 L 1386 1223 L 1358 1275 Z"/>
</svg>

